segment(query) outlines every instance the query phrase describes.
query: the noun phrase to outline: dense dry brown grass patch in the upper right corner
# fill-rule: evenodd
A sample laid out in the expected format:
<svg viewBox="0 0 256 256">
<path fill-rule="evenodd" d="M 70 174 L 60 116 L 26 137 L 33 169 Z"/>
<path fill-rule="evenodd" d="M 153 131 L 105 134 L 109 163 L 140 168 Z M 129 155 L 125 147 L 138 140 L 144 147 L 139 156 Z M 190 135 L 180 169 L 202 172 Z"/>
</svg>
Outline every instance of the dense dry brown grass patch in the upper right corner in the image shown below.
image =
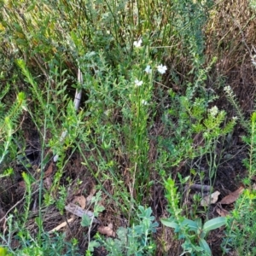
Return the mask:
<svg viewBox="0 0 256 256">
<path fill-rule="evenodd" d="M 214 78 L 224 77 L 224 85 L 231 86 L 248 117 L 253 111 L 255 95 L 255 67 L 252 65 L 256 45 L 255 13 L 246 0 L 219 1 L 215 9 L 206 32 L 207 58 L 218 57 L 209 86 L 218 90 Z M 223 105 L 223 87 L 219 88 L 218 95 Z"/>
</svg>

